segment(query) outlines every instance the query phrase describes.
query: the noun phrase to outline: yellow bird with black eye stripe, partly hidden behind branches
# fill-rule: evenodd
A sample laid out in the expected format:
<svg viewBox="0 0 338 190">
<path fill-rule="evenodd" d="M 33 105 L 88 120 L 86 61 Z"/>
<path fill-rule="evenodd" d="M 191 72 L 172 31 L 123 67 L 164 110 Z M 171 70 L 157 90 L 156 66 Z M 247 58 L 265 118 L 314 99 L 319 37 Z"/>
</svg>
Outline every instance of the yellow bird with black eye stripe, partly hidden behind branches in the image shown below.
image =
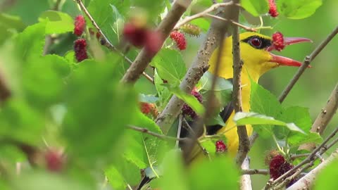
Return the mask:
<svg viewBox="0 0 338 190">
<path fill-rule="evenodd" d="M 299 42 L 311 42 L 310 39 L 299 38 L 299 37 L 284 37 L 284 45 L 296 44 Z M 277 47 L 273 45 L 272 39 L 268 36 L 254 33 L 244 32 L 239 34 L 239 46 L 240 56 L 244 63 L 242 68 L 242 109 L 244 112 L 250 111 L 250 90 L 251 82 L 258 82 L 259 78 L 268 70 L 277 68 L 280 65 L 288 66 L 301 66 L 299 61 L 294 61 L 291 58 L 285 58 L 282 56 L 274 55 L 270 51 Z M 213 52 L 211 60 L 209 61 L 209 72 L 215 75 L 215 64 L 218 56 L 218 49 Z M 218 77 L 225 78 L 227 80 L 232 79 L 232 37 L 227 37 L 223 43 L 223 52 L 220 59 L 220 69 Z M 225 134 L 227 137 L 227 148 L 231 155 L 237 153 L 238 149 L 238 136 L 237 128 L 234 127 L 234 110 L 231 103 L 225 107 L 223 112 L 220 114 L 223 117 L 225 126 L 209 126 L 208 134 L 217 133 Z M 230 129 L 232 127 L 232 129 Z M 252 134 L 251 125 L 246 125 L 248 135 Z M 196 156 L 196 155 L 195 155 Z M 192 157 L 194 158 L 194 156 Z"/>
</svg>

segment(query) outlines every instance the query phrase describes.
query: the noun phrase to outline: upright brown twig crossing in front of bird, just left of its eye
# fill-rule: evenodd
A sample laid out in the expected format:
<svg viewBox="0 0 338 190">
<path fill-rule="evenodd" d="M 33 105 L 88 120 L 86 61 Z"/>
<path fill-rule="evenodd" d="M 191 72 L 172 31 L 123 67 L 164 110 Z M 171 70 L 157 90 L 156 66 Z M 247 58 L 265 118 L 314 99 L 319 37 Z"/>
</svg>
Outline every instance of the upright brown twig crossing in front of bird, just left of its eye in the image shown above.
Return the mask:
<svg viewBox="0 0 338 190">
<path fill-rule="evenodd" d="M 235 1 L 238 3 L 239 1 Z M 238 22 L 239 20 L 239 8 L 234 8 L 234 21 Z M 239 49 L 239 28 L 234 26 L 232 32 L 232 62 L 233 62 L 233 90 L 232 90 L 232 102 L 234 105 L 234 112 L 242 111 L 242 90 L 241 90 L 241 72 L 243 67 L 243 61 L 240 56 Z M 241 125 L 237 126 L 237 134 L 239 138 L 238 152 L 236 155 L 236 164 L 242 165 L 244 159 L 246 158 L 247 153 L 249 152 L 250 142 L 248 133 L 246 131 L 246 126 Z"/>
</svg>

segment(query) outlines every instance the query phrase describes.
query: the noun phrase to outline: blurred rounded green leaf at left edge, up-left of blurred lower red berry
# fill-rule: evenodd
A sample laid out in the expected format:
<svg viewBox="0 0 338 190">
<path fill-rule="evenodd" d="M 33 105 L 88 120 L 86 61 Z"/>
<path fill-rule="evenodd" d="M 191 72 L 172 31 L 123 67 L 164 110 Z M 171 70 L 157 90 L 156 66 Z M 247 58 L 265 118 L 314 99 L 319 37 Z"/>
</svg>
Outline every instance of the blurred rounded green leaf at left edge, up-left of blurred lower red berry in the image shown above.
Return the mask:
<svg viewBox="0 0 338 190">
<path fill-rule="evenodd" d="M 26 144 L 37 145 L 42 141 L 44 122 L 42 115 L 25 101 L 10 99 L 0 112 L 0 137 Z"/>
</svg>

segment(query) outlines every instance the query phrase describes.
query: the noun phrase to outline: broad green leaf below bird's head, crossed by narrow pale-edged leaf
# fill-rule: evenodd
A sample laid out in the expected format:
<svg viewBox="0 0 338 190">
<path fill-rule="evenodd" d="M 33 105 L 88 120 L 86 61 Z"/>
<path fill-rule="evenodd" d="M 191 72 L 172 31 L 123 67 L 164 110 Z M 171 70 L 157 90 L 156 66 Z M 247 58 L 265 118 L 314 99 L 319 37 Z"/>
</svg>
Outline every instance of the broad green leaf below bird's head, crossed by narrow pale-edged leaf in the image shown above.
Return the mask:
<svg viewBox="0 0 338 190">
<path fill-rule="evenodd" d="M 261 85 L 251 80 L 251 98 L 250 98 L 251 111 L 263 115 L 270 115 L 277 118 L 282 112 L 282 106 L 277 98 L 270 93 L 270 91 L 261 87 Z M 263 127 L 255 126 L 253 129 L 263 137 L 270 137 L 273 126 L 265 125 Z"/>
</svg>

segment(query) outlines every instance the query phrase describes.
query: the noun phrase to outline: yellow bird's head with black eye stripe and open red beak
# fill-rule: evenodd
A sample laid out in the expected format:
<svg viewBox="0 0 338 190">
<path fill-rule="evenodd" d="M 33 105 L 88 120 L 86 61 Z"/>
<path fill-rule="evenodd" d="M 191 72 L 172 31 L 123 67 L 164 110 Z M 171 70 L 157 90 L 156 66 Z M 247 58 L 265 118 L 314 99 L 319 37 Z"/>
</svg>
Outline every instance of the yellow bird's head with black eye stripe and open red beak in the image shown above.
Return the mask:
<svg viewBox="0 0 338 190">
<path fill-rule="evenodd" d="M 284 37 L 285 46 L 300 42 L 311 42 L 311 40 L 300 37 Z M 241 57 L 246 68 L 256 70 L 260 75 L 280 65 L 301 66 L 301 62 L 299 61 L 271 53 L 276 47 L 271 37 L 263 34 L 255 32 L 239 34 L 239 44 Z"/>
</svg>

